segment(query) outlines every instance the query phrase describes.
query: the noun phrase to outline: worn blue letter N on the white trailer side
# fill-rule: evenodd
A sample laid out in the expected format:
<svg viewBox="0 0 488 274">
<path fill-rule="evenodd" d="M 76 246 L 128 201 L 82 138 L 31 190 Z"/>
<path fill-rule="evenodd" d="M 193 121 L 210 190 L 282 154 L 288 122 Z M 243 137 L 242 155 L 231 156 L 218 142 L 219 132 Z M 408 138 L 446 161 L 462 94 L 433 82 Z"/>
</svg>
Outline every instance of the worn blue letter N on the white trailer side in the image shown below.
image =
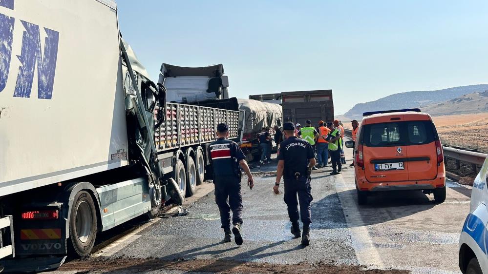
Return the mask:
<svg viewBox="0 0 488 274">
<path fill-rule="evenodd" d="M 22 21 L 25 31 L 22 36 L 21 61 L 14 97 L 30 97 L 34 68 L 37 62 L 38 98 L 51 99 L 58 57 L 59 32 L 44 28 L 45 39 L 44 56 L 41 53 L 41 35 L 39 26 Z"/>
</svg>

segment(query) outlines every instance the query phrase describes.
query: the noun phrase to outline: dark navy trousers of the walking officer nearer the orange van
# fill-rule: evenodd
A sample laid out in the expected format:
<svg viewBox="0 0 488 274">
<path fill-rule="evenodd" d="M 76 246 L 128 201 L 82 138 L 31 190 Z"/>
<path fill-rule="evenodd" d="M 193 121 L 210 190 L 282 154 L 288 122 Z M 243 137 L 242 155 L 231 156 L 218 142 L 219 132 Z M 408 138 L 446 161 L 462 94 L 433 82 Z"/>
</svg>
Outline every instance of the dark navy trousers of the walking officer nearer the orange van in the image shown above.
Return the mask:
<svg viewBox="0 0 488 274">
<path fill-rule="evenodd" d="M 283 178 L 285 184 L 285 195 L 283 199 L 288 207 L 288 216 L 290 221 L 295 223 L 298 221 L 298 201 L 300 202 L 300 216 L 303 225 L 308 225 L 312 222 L 312 213 L 310 211 L 310 203 L 313 200 L 310 186 L 310 179 L 308 177 L 300 176 L 298 178 Z M 298 200 L 297 200 L 298 196 Z"/>
</svg>

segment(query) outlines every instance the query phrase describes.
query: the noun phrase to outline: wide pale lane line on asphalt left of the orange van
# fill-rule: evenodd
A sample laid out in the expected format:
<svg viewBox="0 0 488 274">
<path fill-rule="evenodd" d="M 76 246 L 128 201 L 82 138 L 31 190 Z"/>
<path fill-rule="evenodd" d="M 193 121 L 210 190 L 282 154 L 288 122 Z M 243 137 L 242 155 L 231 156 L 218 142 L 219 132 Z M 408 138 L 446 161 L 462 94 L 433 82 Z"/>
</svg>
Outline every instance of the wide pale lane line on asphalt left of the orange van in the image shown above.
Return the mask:
<svg viewBox="0 0 488 274">
<path fill-rule="evenodd" d="M 361 265 L 374 265 L 375 267 L 382 268 L 384 267 L 383 261 L 378 250 L 373 245 L 373 240 L 369 236 L 368 229 L 364 226 L 356 199 L 353 196 L 353 191 L 350 191 L 354 189 L 354 187 L 351 187 L 351 184 L 344 182 L 342 176 L 336 176 L 336 191 L 358 262 Z"/>
</svg>

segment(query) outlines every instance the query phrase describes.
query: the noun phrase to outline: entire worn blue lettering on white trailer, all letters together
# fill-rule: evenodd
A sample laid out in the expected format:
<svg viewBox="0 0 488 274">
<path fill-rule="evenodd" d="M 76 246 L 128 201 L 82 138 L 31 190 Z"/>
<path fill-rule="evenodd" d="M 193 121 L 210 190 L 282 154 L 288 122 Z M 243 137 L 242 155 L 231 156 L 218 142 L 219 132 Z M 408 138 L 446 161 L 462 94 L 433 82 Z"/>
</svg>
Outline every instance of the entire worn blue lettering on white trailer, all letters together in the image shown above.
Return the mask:
<svg viewBox="0 0 488 274">
<path fill-rule="evenodd" d="M 0 7 L 13 9 L 14 0 L 0 0 Z M 20 21 L 25 31 L 22 35 L 21 55 L 17 56 L 21 65 L 14 97 L 30 98 L 37 63 L 38 98 L 51 99 L 58 59 L 59 32 L 44 28 L 47 37 L 44 40 L 44 54 L 42 54 L 39 25 Z M 5 89 L 9 76 L 14 24 L 13 17 L 0 14 L 0 92 Z"/>
</svg>

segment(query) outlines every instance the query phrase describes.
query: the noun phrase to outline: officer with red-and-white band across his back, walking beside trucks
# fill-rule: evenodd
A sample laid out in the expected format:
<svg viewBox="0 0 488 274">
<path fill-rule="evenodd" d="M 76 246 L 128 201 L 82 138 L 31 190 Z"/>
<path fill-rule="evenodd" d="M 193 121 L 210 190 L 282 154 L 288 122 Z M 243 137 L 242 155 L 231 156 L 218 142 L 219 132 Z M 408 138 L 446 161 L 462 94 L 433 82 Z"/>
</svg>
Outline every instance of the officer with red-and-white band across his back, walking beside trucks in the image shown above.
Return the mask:
<svg viewBox="0 0 488 274">
<path fill-rule="evenodd" d="M 220 221 L 224 229 L 224 242 L 231 241 L 231 210 L 232 233 L 237 245 L 242 244 L 242 195 L 241 171 L 247 174 L 247 184 L 251 190 L 254 187 L 254 178 L 236 142 L 226 139 L 229 137 L 227 124 L 217 125 L 217 140 L 209 145 L 208 155 L 212 163 L 213 184 L 215 185 L 215 203 L 220 212 Z M 227 202 L 229 199 L 229 202 Z"/>
</svg>

